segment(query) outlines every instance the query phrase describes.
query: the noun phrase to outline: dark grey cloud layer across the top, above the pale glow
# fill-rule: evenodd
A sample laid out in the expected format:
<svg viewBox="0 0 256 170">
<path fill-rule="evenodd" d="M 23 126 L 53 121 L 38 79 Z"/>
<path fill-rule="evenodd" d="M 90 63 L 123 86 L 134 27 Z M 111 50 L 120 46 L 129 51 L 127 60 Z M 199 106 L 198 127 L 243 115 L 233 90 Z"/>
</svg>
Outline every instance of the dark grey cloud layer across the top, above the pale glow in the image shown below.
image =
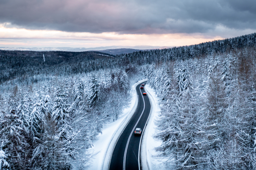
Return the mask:
<svg viewBox="0 0 256 170">
<path fill-rule="evenodd" d="M 71 32 L 206 33 L 256 28 L 255 0 L 0 0 L 0 22 Z"/>
</svg>

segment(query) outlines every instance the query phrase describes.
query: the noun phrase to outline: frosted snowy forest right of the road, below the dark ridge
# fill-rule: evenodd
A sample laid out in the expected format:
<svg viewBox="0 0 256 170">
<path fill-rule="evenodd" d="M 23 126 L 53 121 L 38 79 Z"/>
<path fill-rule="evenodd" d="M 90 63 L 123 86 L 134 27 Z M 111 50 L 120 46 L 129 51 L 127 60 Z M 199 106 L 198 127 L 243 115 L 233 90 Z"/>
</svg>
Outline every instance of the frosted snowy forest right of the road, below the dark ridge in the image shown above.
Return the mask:
<svg viewBox="0 0 256 170">
<path fill-rule="evenodd" d="M 256 169 L 256 50 L 152 64 L 157 158 L 169 169 Z"/>
</svg>

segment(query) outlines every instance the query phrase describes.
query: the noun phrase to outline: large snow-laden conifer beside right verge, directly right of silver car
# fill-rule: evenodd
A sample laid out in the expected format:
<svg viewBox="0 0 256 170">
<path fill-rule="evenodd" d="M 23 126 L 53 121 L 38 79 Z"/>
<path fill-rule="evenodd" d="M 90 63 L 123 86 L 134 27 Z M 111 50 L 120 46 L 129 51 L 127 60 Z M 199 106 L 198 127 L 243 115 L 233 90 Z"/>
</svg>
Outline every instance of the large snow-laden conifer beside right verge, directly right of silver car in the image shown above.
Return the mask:
<svg viewBox="0 0 256 170">
<path fill-rule="evenodd" d="M 175 164 L 176 169 L 180 164 L 180 155 L 183 154 L 183 140 L 186 138 L 181 128 L 181 106 L 178 98 L 178 91 L 173 90 L 172 95 L 167 97 L 166 105 L 156 121 L 158 126 L 157 140 L 162 140 L 162 144 L 156 148 L 159 157 L 167 158 L 167 163 Z M 174 158 L 174 160 L 173 160 Z"/>
</svg>

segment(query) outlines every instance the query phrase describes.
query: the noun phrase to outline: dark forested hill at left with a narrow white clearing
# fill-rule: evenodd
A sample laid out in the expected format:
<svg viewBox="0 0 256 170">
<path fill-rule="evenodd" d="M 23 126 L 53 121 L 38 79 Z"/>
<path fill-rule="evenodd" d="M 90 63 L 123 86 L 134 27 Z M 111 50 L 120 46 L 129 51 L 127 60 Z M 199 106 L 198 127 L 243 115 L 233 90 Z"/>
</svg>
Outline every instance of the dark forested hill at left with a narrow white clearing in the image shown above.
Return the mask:
<svg viewBox="0 0 256 170">
<path fill-rule="evenodd" d="M 99 70 L 101 64 L 115 57 L 103 52 L 7 51 L 0 50 L 0 84 L 38 74 L 76 74 Z M 44 61 L 45 60 L 45 61 Z M 24 77 L 23 77 L 24 78 Z"/>
</svg>

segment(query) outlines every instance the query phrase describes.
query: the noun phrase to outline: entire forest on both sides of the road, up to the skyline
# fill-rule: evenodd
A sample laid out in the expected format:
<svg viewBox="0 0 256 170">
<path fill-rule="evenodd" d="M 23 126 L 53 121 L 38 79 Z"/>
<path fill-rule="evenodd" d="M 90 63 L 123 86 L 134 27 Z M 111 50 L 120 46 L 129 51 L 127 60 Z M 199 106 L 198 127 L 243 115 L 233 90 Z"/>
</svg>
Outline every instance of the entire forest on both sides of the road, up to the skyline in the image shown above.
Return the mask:
<svg viewBox="0 0 256 170">
<path fill-rule="evenodd" d="M 85 168 L 143 74 L 161 99 L 167 167 L 255 169 L 255 44 L 256 33 L 117 56 L 0 50 L 0 167 Z"/>
</svg>

